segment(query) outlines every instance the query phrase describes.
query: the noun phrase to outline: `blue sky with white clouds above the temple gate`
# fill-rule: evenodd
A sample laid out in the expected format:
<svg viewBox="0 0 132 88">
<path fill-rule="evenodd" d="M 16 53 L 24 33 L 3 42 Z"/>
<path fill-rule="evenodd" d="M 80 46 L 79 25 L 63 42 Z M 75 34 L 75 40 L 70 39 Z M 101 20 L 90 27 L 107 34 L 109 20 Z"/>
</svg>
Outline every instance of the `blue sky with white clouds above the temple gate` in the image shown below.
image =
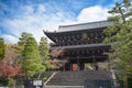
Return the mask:
<svg viewBox="0 0 132 88">
<path fill-rule="evenodd" d="M 29 32 L 40 42 L 43 30 L 107 20 L 116 1 L 121 0 L 0 0 L 0 37 L 14 44 Z"/>
</svg>

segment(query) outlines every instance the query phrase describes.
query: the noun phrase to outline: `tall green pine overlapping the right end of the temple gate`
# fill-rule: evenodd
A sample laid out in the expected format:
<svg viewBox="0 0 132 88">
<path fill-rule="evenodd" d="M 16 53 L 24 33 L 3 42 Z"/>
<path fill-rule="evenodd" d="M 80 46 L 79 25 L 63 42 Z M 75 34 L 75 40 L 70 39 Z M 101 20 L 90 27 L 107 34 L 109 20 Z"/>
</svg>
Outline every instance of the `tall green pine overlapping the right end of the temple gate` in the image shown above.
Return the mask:
<svg viewBox="0 0 132 88">
<path fill-rule="evenodd" d="M 116 2 L 111 11 L 112 15 L 108 21 L 113 25 L 108 28 L 105 33 L 107 37 L 105 43 L 111 43 L 113 53 L 109 56 L 118 69 L 118 75 L 127 79 L 132 75 L 132 4 L 130 0 Z"/>
</svg>

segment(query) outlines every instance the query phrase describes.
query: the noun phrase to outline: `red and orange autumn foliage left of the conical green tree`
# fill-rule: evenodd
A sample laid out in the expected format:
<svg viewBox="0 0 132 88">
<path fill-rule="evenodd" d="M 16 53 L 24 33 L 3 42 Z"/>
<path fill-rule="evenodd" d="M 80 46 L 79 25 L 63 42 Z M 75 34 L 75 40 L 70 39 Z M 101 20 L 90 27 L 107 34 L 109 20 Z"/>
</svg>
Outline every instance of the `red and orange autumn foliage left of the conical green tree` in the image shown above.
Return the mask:
<svg viewBox="0 0 132 88">
<path fill-rule="evenodd" d="M 18 55 L 11 48 L 12 44 L 6 44 L 6 55 L 0 62 L 0 76 L 4 78 L 13 78 L 20 75 L 21 67 L 18 64 Z"/>
</svg>

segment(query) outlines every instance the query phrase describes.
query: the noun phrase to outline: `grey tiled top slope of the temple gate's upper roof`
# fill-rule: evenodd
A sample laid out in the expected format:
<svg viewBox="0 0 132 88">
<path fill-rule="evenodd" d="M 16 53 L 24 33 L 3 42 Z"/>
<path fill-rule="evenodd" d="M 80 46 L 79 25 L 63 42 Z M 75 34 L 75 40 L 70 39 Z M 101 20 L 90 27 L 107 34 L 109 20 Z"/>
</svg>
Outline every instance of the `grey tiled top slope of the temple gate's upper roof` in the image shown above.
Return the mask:
<svg viewBox="0 0 132 88">
<path fill-rule="evenodd" d="M 80 24 L 72 24 L 72 25 L 61 25 L 57 32 L 90 30 L 90 29 L 98 29 L 98 28 L 107 28 L 110 25 L 113 25 L 113 23 L 108 22 L 108 21 L 98 21 L 98 22 L 80 23 Z"/>
</svg>

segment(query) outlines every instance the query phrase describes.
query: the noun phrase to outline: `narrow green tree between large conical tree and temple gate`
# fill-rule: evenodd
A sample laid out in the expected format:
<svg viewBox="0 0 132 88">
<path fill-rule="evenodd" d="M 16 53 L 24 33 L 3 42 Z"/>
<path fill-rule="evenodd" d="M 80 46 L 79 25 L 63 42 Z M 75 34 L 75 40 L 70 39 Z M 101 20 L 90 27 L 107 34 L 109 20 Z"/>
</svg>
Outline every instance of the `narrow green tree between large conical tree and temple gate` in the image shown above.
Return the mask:
<svg viewBox="0 0 132 88">
<path fill-rule="evenodd" d="M 40 55 L 43 59 L 43 65 L 46 67 L 46 69 L 52 68 L 52 65 L 50 63 L 50 48 L 46 37 L 41 37 L 38 50 L 40 50 Z"/>
</svg>

